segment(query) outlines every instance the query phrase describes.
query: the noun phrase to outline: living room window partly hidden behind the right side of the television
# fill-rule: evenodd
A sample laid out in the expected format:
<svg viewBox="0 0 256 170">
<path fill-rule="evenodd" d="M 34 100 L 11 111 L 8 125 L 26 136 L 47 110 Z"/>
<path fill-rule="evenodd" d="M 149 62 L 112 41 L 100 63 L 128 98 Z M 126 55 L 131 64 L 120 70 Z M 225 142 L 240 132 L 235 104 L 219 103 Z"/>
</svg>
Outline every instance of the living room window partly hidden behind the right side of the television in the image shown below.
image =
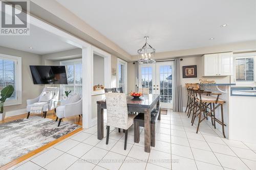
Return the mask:
<svg viewBox="0 0 256 170">
<path fill-rule="evenodd" d="M 70 91 L 70 95 L 74 93 L 82 93 L 82 60 L 61 61 L 60 65 L 66 66 L 68 84 L 60 85 L 60 95 L 63 99 L 65 91 Z"/>
</svg>

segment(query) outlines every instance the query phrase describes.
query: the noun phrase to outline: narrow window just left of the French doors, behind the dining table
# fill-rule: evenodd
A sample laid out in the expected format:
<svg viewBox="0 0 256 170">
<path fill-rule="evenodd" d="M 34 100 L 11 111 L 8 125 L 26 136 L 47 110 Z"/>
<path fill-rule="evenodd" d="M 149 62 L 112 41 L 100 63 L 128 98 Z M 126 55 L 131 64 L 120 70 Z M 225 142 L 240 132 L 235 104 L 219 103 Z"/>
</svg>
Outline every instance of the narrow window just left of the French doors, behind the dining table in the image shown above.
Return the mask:
<svg viewBox="0 0 256 170">
<path fill-rule="evenodd" d="M 127 93 L 127 62 L 117 59 L 117 87 L 122 87 L 123 93 Z"/>
</svg>

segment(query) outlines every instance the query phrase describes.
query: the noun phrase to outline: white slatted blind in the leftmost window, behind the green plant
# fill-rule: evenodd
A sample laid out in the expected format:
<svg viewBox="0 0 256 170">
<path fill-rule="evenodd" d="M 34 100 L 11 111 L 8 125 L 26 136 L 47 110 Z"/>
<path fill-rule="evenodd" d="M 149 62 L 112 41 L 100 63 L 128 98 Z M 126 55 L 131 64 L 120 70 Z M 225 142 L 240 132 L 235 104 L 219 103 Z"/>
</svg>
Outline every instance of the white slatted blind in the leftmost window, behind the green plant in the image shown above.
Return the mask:
<svg viewBox="0 0 256 170">
<path fill-rule="evenodd" d="M 17 66 L 16 62 L 0 58 L 0 91 L 8 85 L 14 87 L 12 96 L 7 100 L 17 100 Z"/>
</svg>

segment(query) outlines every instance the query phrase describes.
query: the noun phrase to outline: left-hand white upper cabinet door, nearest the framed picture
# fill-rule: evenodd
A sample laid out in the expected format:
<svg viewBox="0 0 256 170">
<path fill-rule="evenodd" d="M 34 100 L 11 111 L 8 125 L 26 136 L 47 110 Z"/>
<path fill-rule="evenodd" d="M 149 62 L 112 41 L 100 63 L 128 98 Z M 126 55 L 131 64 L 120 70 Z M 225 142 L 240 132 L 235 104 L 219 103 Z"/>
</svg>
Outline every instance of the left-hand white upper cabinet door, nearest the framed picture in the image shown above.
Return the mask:
<svg viewBox="0 0 256 170">
<path fill-rule="evenodd" d="M 204 76 L 218 75 L 218 54 L 204 55 Z"/>
</svg>

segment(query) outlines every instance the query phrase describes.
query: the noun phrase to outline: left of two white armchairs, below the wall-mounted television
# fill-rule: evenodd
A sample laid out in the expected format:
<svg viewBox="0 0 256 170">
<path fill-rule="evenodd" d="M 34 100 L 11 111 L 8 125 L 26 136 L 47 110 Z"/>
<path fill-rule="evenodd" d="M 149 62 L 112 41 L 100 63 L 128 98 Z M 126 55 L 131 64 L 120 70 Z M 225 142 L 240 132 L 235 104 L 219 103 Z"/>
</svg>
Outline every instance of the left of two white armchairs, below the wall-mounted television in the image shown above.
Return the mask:
<svg viewBox="0 0 256 170">
<path fill-rule="evenodd" d="M 45 118 L 46 118 L 46 114 L 47 114 L 48 110 L 54 109 L 55 113 L 56 113 L 56 107 L 57 107 L 58 99 L 59 99 L 59 88 L 58 87 L 45 87 L 44 90 L 42 90 L 40 95 L 42 95 L 42 93 L 44 93 L 46 91 L 52 91 L 53 98 L 49 102 L 47 102 L 44 105 L 44 107 L 42 107 L 42 112 L 44 113 Z M 40 95 L 35 99 L 27 100 L 27 112 L 28 112 L 27 118 L 29 118 L 32 105 L 39 102 Z"/>
</svg>

